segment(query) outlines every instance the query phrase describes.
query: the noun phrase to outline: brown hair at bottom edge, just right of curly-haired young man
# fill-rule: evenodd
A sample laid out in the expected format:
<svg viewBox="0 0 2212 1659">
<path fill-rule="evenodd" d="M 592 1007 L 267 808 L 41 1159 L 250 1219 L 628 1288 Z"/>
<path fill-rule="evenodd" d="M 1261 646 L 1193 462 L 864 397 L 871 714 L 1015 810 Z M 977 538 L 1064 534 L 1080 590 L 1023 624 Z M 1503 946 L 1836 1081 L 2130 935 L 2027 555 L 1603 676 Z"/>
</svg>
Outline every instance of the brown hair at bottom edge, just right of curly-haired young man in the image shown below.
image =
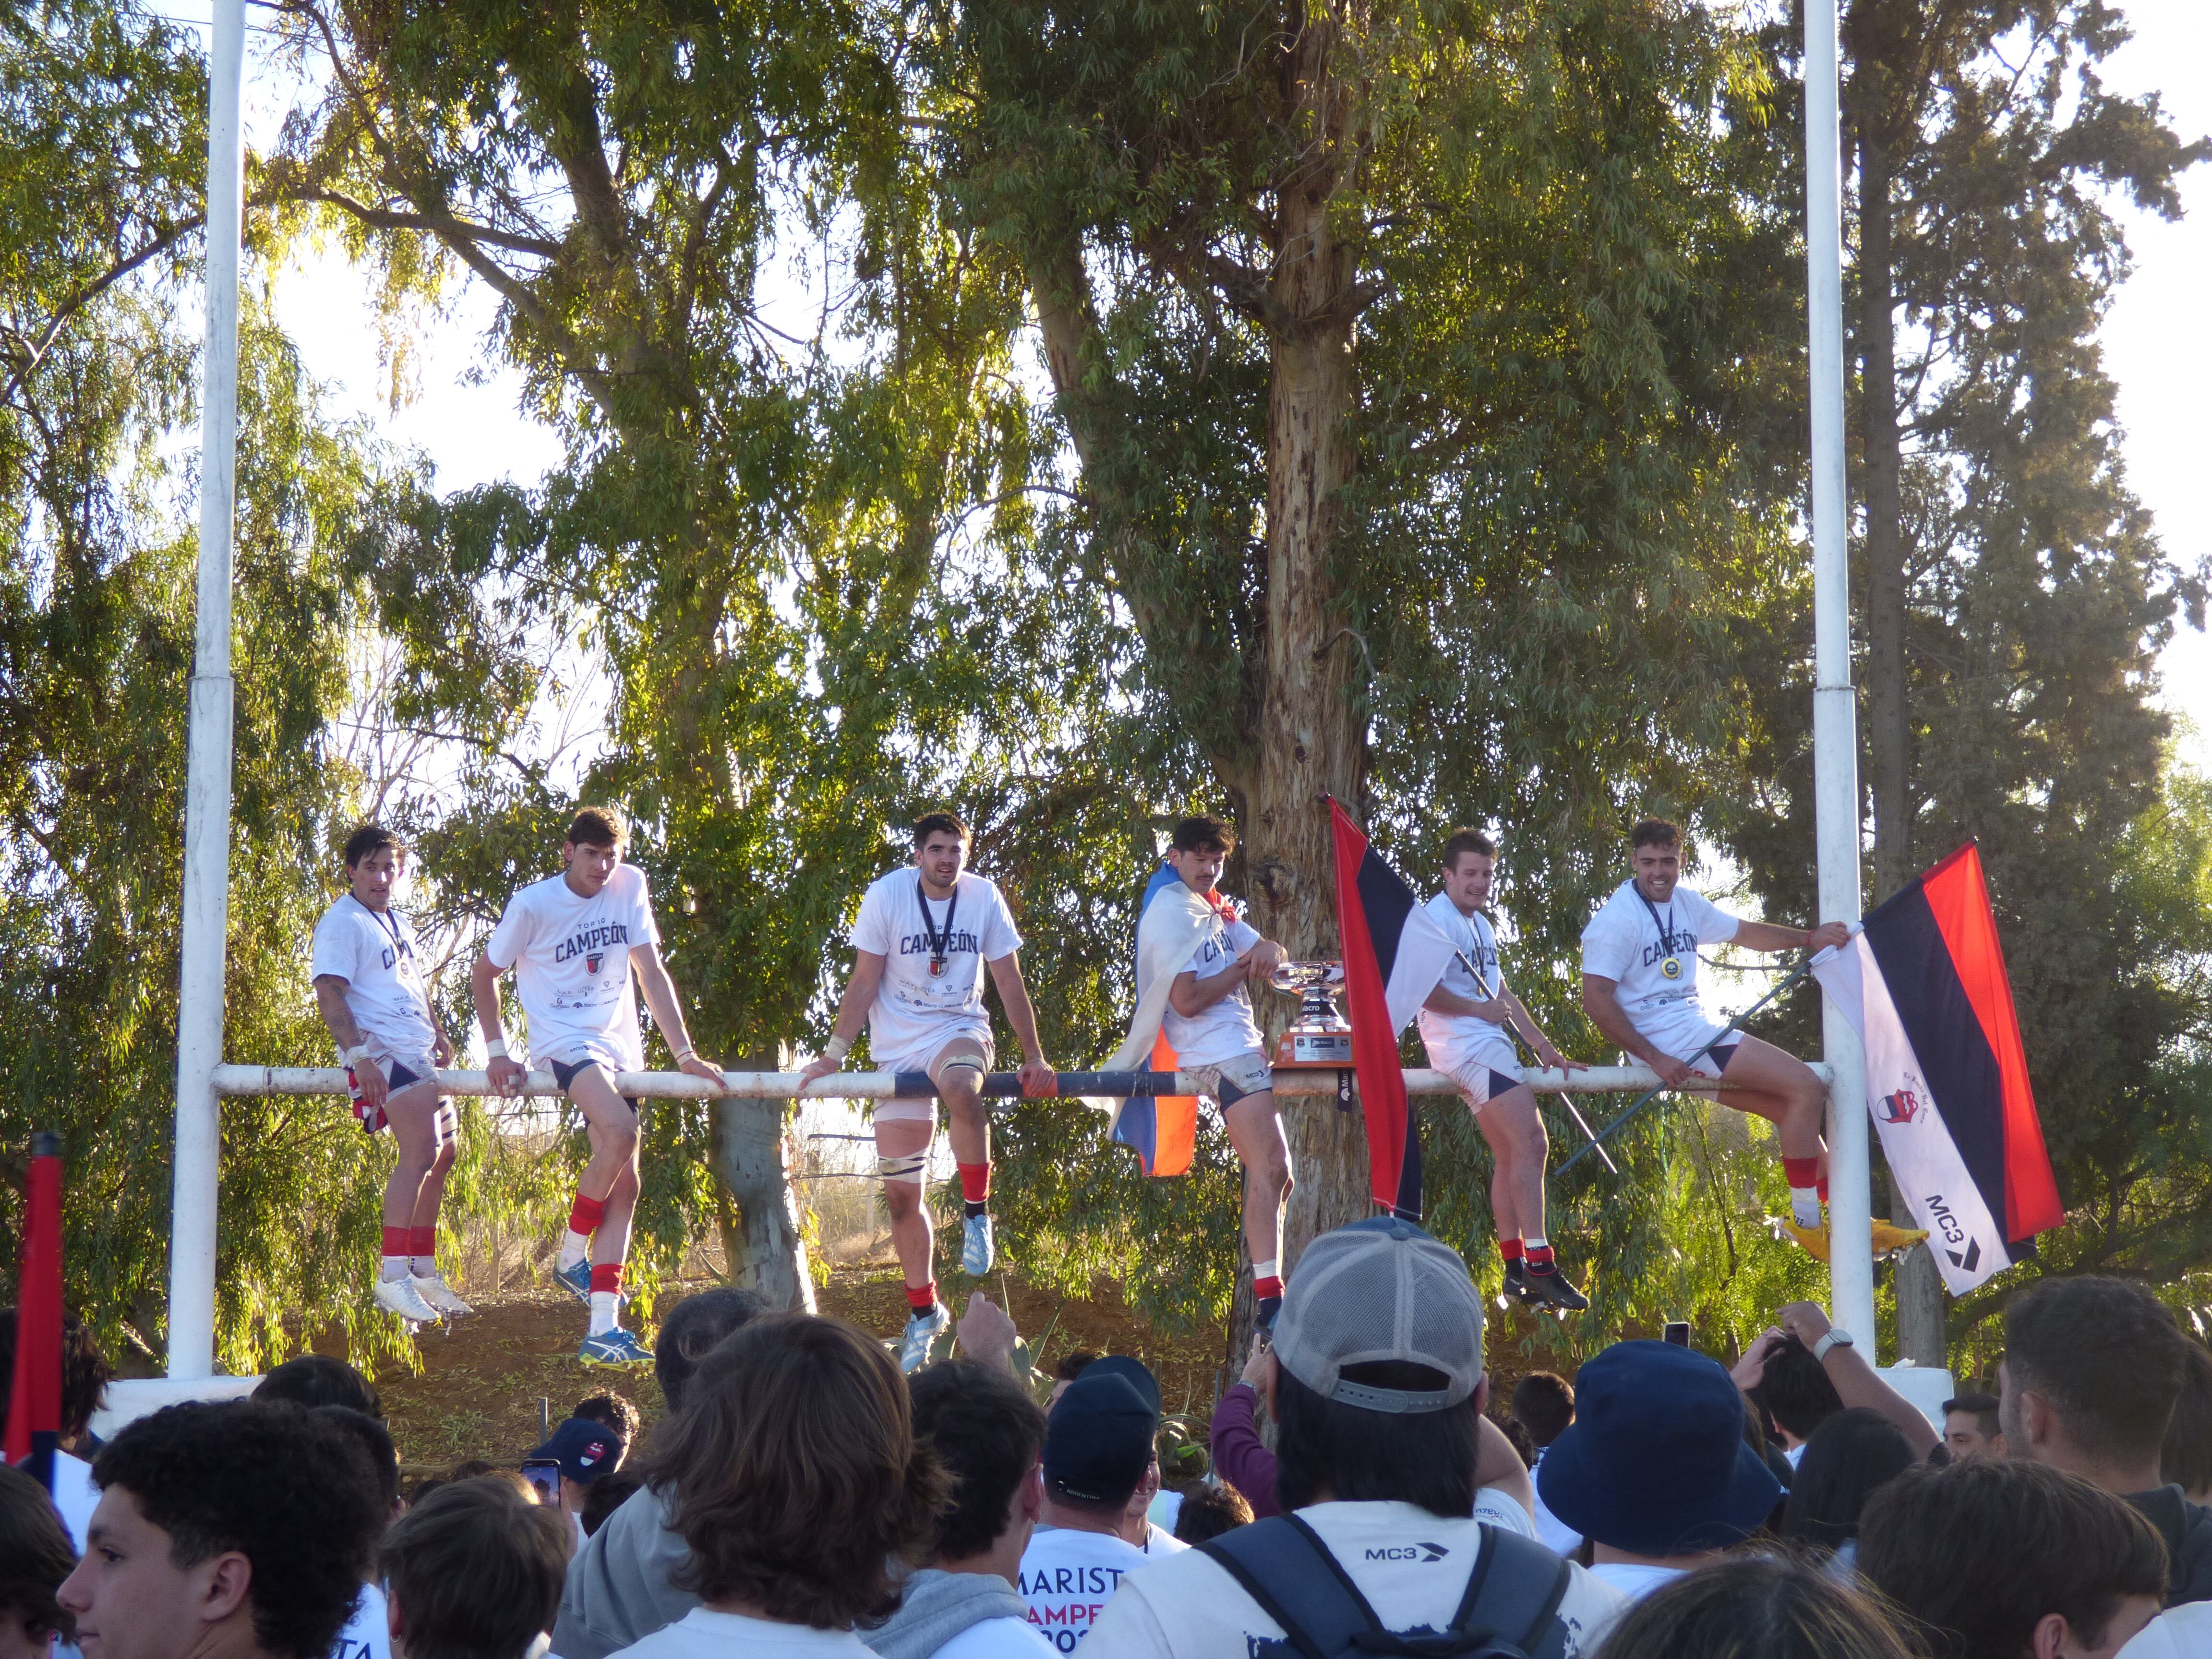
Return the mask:
<svg viewBox="0 0 2212 1659">
<path fill-rule="evenodd" d="M 400 1515 L 376 1555 L 407 1659 L 515 1659 L 560 1613 L 568 1517 L 504 1480 L 456 1480 Z"/>
</svg>

